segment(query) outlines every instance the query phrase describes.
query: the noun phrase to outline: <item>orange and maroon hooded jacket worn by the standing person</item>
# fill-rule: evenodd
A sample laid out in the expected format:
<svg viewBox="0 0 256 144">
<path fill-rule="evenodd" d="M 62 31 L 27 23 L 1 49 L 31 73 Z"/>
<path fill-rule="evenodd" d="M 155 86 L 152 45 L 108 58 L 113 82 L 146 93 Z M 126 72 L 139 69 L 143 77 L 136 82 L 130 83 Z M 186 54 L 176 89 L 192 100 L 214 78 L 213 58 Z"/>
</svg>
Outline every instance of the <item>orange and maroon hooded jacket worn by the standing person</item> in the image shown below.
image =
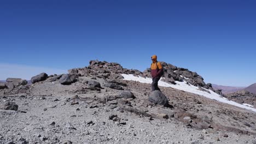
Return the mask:
<svg viewBox="0 0 256 144">
<path fill-rule="evenodd" d="M 162 69 L 162 65 L 160 62 L 158 62 L 158 57 L 156 55 L 151 57 L 152 59 L 154 59 L 153 63 L 151 64 L 151 75 L 153 78 L 155 77 L 160 77 L 161 73 L 163 71 Z"/>
</svg>

